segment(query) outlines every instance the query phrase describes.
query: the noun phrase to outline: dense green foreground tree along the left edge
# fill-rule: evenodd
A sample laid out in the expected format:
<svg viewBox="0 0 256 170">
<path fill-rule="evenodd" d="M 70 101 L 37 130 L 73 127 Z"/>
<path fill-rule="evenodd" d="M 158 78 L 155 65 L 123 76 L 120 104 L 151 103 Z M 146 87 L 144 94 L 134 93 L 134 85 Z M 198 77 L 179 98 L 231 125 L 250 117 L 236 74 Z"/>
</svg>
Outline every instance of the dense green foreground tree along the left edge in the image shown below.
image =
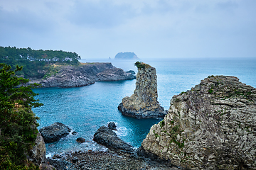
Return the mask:
<svg viewBox="0 0 256 170">
<path fill-rule="evenodd" d="M 28 79 L 16 77 L 22 67 L 0 63 L 0 169 L 38 169 L 26 155 L 33 147 L 38 133 L 38 119 L 31 108 L 42 106 L 31 88 L 23 86 Z"/>
</svg>

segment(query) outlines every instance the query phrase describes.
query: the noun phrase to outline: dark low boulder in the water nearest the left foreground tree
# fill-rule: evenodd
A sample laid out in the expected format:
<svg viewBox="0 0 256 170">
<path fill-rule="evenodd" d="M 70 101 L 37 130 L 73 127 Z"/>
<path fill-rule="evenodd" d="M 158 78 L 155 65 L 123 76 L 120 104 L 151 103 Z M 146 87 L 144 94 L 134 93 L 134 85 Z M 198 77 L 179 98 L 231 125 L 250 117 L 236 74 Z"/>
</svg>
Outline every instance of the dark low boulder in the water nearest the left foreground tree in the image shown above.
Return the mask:
<svg viewBox="0 0 256 170">
<path fill-rule="evenodd" d="M 63 123 L 53 123 L 39 130 L 46 143 L 58 141 L 61 137 L 67 136 L 70 131 L 70 128 Z"/>
</svg>

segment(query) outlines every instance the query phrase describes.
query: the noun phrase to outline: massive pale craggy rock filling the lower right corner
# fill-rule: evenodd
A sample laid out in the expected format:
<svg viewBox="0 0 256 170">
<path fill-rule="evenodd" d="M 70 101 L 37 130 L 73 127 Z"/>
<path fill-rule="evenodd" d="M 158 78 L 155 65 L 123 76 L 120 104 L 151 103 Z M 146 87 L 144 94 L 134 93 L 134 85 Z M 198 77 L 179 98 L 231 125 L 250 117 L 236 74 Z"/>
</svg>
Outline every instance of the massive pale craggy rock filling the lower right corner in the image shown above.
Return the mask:
<svg viewBox="0 0 256 170">
<path fill-rule="evenodd" d="M 190 169 L 256 169 L 256 89 L 236 77 L 203 79 L 171 99 L 141 150 Z"/>
</svg>

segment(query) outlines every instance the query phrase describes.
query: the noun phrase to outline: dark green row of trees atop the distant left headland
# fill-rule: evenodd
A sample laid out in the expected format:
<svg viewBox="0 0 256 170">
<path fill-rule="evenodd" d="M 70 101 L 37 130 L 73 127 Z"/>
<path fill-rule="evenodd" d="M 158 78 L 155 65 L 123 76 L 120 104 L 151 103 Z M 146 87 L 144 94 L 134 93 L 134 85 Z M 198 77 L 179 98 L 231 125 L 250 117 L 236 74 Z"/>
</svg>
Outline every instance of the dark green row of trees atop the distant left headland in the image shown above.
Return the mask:
<svg viewBox="0 0 256 170">
<path fill-rule="evenodd" d="M 22 65 L 23 70 L 17 75 L 23 75 L 25 78 L 41 79 L 45 72 L 43 70 L 46 64 L 72 64 L 78 65 L 81 60 L 80 55 L 75 52 L 64 52 L 63 50 L 32 50 L 28 48 L 1 47 L 0 63 L 15 66 Z"/>
</svg>

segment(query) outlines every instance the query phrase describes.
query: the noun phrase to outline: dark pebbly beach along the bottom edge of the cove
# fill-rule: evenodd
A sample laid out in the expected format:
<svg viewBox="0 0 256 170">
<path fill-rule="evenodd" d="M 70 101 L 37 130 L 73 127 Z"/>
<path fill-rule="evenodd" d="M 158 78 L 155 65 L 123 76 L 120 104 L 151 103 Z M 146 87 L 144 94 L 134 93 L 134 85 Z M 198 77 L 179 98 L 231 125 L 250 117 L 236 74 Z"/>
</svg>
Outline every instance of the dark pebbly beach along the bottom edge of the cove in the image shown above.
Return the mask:
<svg viewBox="0 0 256 170">
<path fill-rule="evenodd" d="M 157 162 L 146 157 L 142 157 L 134 152 L 128 154 L 124 152 L 68 152 L 63 155 L 54 155 L 46 159 L 46 164 L 53 165 L 58 170 L 67 169 L 170 169 L 178 170 L 170 162 Z"/>
</svg>

